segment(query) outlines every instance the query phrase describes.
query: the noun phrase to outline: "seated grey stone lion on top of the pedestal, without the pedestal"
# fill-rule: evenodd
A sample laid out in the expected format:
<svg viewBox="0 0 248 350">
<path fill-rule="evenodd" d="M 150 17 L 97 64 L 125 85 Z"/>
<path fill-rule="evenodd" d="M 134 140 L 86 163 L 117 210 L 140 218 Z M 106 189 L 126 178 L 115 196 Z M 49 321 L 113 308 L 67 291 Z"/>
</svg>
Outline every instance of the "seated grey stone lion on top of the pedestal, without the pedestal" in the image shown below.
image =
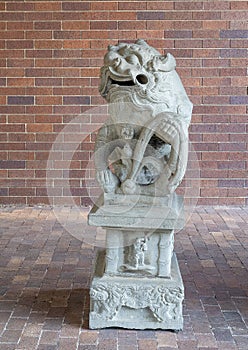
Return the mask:
<svg viewBox="0 0 248 350">
<path fill-rule="evenodd" d="M 187 166 L 192 103 L 175 58 L 144 40 L 109 46 L 99 91 L 110 118 L 99 130 L 95 164 L 105 193 L 166 196 Z"/>
</svg>

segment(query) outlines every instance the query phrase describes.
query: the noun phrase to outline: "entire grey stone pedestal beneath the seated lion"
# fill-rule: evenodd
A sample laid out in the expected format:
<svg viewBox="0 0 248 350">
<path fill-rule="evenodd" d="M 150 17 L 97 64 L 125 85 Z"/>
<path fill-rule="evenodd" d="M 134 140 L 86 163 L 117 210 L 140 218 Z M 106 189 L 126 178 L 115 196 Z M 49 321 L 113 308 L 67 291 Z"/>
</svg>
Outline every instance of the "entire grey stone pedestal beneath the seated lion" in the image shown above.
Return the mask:
<svg viewBox="0 0 248 350">
<path fill-rule="evenodd" d="M 182 329 L 184 287 L 173 253 L 174 230 L 184 225 L 182 198 L 135 202 L 105 194 L 88 221 L 106 229 L 90 288 L 90 328 Z"/>
</svg>

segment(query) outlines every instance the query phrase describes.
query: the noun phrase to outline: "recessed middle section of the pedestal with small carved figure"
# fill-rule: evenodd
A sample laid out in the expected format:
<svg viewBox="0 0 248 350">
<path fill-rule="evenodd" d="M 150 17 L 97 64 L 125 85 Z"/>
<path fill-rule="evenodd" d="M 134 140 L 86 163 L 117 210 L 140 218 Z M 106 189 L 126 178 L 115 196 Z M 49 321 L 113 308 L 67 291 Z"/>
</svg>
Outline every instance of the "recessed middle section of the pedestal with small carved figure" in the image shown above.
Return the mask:
<svg viewBox="0 0 248 350">
<path fill-rule="evenodd" d="M 105 274 L 171 276 L 173 230 L 107 229 Z"/>
</svg>

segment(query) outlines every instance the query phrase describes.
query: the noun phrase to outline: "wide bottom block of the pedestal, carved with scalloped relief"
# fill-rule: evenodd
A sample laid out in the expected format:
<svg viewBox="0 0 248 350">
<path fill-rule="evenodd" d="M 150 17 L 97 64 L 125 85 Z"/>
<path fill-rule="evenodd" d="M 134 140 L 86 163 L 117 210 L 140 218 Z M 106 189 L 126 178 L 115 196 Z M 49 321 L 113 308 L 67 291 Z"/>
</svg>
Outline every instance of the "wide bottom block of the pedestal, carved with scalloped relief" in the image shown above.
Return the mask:
<svg viewBox="0 0 248 350">
<path fill-rule="evenodd" d="M 104 253 L 97 259 L 90 288 L 90 328 L 183 328 L 184 286 L 176 255 L 171 278 L 104 275 Z"/>
</svg>

